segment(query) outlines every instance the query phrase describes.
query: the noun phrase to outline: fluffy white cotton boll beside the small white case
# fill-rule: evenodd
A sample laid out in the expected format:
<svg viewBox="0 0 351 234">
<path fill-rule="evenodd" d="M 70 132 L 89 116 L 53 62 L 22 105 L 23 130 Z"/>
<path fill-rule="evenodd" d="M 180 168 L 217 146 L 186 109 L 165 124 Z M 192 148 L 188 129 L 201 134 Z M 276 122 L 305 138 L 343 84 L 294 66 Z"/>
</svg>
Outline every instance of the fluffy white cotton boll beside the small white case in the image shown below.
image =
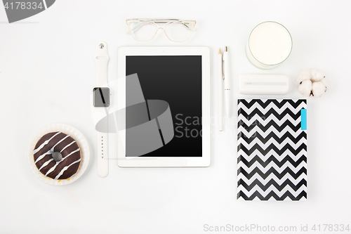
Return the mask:
<svg viewBox="0 0 351 234">
<path fill-rule="evenodd" d="M 303 94 L 303 96 L 322 96 L 326 90 L 330 89 L 330 82 L 324 74 L 317 70 L 301 70 L 298 74 L 298 91 Z"/>
</svg>

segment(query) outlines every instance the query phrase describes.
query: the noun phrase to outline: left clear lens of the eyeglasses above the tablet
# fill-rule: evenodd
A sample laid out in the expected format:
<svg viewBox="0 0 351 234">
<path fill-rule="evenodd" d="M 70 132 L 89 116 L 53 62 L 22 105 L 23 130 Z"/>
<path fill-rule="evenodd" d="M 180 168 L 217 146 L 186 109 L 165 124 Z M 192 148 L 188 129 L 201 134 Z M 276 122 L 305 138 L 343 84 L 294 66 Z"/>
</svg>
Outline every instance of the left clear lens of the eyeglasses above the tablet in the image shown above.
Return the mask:
<svg viewBox="0 0 351 234">
<path fill-rule="evenodd" d="M 131 22 L 130 33 L 138 41 L 148 41 L 157 32 L 157 26 L 152 22 Z"/>
</svg>

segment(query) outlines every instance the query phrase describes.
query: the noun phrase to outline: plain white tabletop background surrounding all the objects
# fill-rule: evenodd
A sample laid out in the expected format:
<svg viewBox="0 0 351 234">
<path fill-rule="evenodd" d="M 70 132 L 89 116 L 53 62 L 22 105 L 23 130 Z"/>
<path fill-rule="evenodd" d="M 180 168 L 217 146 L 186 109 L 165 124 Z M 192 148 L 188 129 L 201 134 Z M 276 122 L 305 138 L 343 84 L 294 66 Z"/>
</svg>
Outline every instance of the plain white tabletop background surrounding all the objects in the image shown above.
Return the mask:
<svg viewBox="0 0 351 234">
<path fill-rule="evenodd" d="M 350 1 L 56 1 L 48 10 L 8 24 L 0 6 L 0 233 L 211 233 L 209 226 L 351 224 Z M 126 34 L 127 18 L 197 20 L 190 41 L 176 44 L 159 33 L 139 43 Z M 253 67 L 244 46 L 258 23 L 282 23 L 293 52 L 274 70 Z M 95 44 L 109 46 L 109 79 L 117 79 L 119 46 L 209 46 L 211 115 L 218 116 L 218 48 L 228 46 L 232 89 L 240 73 L 284 73 L 303 98 L 299 70 L 317 67 L 332 82 L 308 102 L 307 202 L 238 202 L 234 114 L 219 133 L 213 122 L 208 168 L 121 169 L 97 174 L 89 96 L 95 85 Z M 232 108 L 236 110 L 234 92 Z M 255 96 L 264 98 L 263 96 Z M 268 96 L 277 98 L 277 96 Z M 32 136 L 46 124 L 79 129 L 91 148 L 85 174 L 68 186 L 50 186 L 27 162 Z M 111 145 L 110 152 L 113 152 Z M 215 233 L 215 232 L 212 232 Z M 218 233 L 218 232 L 217 232 Z M 267 232 L 266 232 L 267 233 Z M 331 233 L 331 232 L 330 232 Z"/>
</svg>

